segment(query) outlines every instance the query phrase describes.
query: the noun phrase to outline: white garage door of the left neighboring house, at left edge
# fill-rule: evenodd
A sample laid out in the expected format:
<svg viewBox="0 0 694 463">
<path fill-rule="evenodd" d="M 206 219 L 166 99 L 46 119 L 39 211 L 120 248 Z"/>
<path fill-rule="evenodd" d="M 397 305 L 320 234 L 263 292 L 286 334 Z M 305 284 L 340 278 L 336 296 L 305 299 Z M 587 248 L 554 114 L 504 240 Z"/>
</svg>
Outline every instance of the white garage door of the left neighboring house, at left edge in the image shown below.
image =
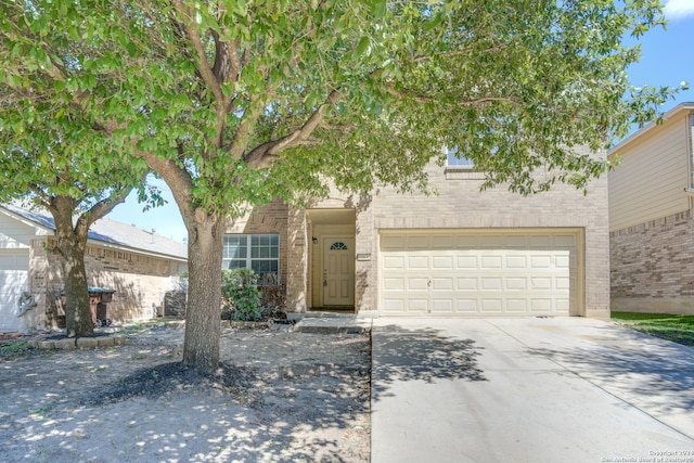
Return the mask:
<svg viewBox="0 0 694 463">
<path fill-rule="evenodd" d="M 16 331 L 14 310 L 28 285 L 29 250 L 0 249 L 0 331 Z"/>
</svg>

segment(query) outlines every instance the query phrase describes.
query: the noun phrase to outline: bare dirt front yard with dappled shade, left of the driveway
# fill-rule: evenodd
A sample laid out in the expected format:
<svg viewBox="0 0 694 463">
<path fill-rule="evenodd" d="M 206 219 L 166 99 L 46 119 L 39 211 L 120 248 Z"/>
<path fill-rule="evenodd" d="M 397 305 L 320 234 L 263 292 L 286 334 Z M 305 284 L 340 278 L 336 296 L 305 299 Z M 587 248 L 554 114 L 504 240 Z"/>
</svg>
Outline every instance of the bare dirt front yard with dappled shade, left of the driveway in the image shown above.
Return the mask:
<svg viewBox="0 0 694 463">
<path fill-rule="evenodd" d="M 0 359 L 0 461 L 369 461 L 368 336 L 226 329 L 210 377 L 182 344 L 154 326 Z"/>
</svg>

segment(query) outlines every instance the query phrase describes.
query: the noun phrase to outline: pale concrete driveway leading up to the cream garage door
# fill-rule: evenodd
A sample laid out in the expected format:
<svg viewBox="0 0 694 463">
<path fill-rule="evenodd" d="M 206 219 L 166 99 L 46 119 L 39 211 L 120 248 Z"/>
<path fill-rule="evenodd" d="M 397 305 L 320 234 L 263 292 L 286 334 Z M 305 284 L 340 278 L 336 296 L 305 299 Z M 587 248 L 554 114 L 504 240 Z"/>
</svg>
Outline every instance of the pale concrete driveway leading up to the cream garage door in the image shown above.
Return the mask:
<svg viewBox="0 0 694 463">
<path fill-rule="evenodd" d="M 372 462 L 694 462 L 694 349 L 597 320 L 377 319 Z"/>
</svg>

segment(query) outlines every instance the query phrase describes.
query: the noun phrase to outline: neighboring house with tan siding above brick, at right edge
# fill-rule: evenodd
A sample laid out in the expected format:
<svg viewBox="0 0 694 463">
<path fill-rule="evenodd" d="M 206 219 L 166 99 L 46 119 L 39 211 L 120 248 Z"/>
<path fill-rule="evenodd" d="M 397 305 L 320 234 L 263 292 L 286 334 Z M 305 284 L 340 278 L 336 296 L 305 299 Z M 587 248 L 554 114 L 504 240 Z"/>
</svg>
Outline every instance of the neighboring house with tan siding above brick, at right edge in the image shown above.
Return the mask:
<svg viewBox="0 0 694 463">
<path fill-rule="evenodd" d="M 612 309 L 694 314 L 694 103 L 612 149 Z"/>
</svg>

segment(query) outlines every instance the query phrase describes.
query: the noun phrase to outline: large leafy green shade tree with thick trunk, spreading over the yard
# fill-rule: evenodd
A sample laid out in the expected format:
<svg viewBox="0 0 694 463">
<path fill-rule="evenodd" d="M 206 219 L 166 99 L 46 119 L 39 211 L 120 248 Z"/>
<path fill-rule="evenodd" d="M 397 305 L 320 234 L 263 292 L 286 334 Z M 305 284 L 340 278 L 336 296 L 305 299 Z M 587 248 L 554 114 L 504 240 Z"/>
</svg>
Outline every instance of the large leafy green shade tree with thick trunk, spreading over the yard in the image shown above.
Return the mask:
<svg viewBox="0 0 694 463">
<path fill-rule="evenodd" d="M 630 92 L 639 50 L 621 44 L 661 22 L 656 0 L 5 0 L 2 59 L 24 67 L 0 81 L 40 73 L 170 187 L 189 232 L 183 362 L 209 371 L 228 216 L 327 179 L 426 188 L 445 145 L 487 185 L 584 188 L 608 165 L 576 149 L 667 95 Z"/>
</svg>

